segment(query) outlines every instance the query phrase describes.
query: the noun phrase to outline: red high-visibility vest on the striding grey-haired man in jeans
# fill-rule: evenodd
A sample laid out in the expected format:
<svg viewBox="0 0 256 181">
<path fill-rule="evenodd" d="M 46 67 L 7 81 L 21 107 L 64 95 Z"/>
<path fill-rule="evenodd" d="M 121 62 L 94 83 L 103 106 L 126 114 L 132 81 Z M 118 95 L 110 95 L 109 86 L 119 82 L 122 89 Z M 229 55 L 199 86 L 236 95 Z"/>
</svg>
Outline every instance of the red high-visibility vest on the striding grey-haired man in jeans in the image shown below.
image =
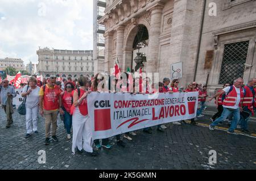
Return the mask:
<svg viewBox="0 0 256 181">
<path fill-rule="evenodd" d="M 243 100 L 243 89 L 240 87 L 240 103 L 239 106 L 241 106 L 242 100 Z M 225 96 L 225 99 L 223 100 L 222 105 L 223 106 L 235 106 L 237 102 L 237 91 L 236 88 L 233 87 L 232 91 L 228 93 L 228 95 Z"/>
</svg>

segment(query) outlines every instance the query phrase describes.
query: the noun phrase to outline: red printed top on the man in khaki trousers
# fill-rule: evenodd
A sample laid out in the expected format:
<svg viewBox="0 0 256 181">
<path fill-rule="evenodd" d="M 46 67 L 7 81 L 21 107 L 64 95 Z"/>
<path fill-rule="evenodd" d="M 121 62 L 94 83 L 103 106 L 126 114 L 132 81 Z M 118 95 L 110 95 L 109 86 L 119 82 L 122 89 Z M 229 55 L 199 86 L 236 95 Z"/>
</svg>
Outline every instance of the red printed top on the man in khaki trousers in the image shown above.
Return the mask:
<svg viewBox="0 0 256 181">
<path fill-rule="evenodd" d="M 59 109 L 59 95 L 59 86 L 55 85 L 53 89 L 49 89 L 48 86 L 46 86 L 43 100 L 44 110 L 51 111 Z"/>
</svg>

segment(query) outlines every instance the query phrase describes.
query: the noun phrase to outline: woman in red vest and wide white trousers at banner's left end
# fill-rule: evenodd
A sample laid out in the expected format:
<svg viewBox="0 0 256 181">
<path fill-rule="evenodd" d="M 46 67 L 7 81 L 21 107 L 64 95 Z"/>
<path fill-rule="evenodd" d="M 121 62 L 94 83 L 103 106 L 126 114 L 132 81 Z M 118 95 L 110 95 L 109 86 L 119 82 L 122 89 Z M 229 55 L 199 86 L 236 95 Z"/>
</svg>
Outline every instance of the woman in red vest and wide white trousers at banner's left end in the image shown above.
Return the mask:
<svg viewBox="0 0 256 181">
<path fill-rule="evenodd" d="M 97 153 L 92 148 L 92 125 L 88 116 L 87 95 L 90 90 L 86 91 L 86 83 L 88 78 L 82 76 L 78 78 L 80 88 L 73 92 L 73 105 L 71 108 L 73 121 L 73 140 L 72 152 L 82 153 L 82 149 L 91 156 L 96 156 Z"/>
</svg>

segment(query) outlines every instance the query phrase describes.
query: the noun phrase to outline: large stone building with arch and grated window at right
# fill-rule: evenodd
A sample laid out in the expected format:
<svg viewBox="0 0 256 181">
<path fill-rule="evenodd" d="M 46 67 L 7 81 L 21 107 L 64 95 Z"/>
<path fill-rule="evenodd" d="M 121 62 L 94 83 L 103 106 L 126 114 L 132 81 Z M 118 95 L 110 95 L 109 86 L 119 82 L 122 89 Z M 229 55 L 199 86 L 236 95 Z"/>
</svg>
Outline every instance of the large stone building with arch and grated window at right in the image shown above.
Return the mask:
<svg viewBox="0 0 256 181">
<path fill-rule="evenodd" d="M 105 60 L 110 71 L 134 69 L 138 49 L 144 71 L 171 77 L 171 64 L 183 62 L 181 86 L 197 81 L 210 94 L 225 82 L 256 77 L 256 1 L 254 0 L 107 0 Z"/>
</svg>

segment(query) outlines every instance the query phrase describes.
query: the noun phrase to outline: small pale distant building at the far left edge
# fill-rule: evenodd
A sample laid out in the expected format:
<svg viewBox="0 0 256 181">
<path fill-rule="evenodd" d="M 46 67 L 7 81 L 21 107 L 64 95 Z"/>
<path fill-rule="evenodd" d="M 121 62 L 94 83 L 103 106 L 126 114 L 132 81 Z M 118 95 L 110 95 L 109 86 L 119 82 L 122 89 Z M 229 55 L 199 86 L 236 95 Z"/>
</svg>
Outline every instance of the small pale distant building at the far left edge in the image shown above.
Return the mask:
<svg viewBox="0 0 256 181">
<path fill-rule="evenodd" d="M 9 66 L 16 70 L 24 70 L 23 60 L 20 58 L 0 58 L 0 71 Z"/>
</svg>

